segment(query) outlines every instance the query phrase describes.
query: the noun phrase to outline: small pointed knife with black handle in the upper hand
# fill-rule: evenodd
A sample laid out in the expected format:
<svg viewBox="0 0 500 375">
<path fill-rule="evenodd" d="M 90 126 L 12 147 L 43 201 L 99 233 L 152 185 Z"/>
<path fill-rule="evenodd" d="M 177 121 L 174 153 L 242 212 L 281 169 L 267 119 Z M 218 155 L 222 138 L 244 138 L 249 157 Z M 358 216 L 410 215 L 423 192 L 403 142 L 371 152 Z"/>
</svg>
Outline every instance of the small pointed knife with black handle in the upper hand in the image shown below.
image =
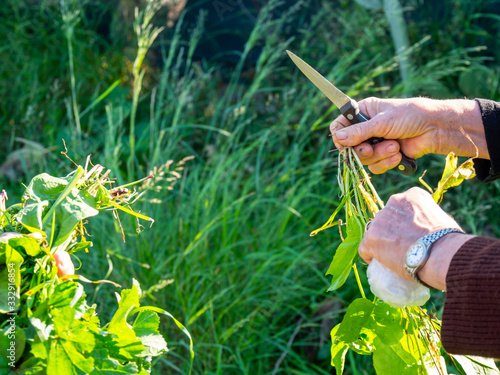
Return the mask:
<svg viewBox="0 0 500 375">
<path fill-rule="evenodd" d="M 325 94 L 328 99 L 330 99 L 331 102 L 340 109 L 340 112 L 342 112 L 342 114 L 349 120 L 351 124 L 357 124 L 359 122 L 365 122 L 369 120 L 366 115 L 360 112 L 358 102 L 356 102 L 354 99 L 351 99 L 349 96 L 336 88 L 330 81 L 319 74 L 300 57 L 288 50 L 286 52 L 295 63 L 295 65 L 297 65 L 297 67 L 302 71 L 302 73 L 304 73 L 304 75 L 309 78 L 309 80 L 314 83 L 314 85 L 318 89 L 320 89 L 321 92 Z M 367 142 L 371 145 L 374 145 L 384 140 L 384 138 L 370 138 L 367 140 Z M 398 165 L 398 170 L 405 176 L 410 176 L 417 170 L 417 162 L 415 161 L 415 159 L 411 159 L 403 154 L 403 152 L 401 152 L 401 154 L 403 155 L 403 157 L 401 158 L 401 162 Z"/>
</svg>

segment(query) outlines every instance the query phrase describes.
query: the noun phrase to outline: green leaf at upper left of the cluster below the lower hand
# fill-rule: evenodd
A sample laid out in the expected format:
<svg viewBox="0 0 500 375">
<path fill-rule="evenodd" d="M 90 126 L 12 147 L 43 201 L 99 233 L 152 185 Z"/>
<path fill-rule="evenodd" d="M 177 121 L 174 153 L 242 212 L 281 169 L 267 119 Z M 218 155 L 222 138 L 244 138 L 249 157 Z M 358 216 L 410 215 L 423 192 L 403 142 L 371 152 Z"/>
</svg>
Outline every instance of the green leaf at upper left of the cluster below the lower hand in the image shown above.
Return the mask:
<svg viewBox="0 0 500 375">
<path fill-rule="evenodd" d="M 375 305 L 366 298 L 354 300 L 344 315 L 342 323 L 337 331 L 337 338 L 345 343 L 351 343 L 358 340 L 361 329 L 365 327 L 370 320 Z"/>
</svg>

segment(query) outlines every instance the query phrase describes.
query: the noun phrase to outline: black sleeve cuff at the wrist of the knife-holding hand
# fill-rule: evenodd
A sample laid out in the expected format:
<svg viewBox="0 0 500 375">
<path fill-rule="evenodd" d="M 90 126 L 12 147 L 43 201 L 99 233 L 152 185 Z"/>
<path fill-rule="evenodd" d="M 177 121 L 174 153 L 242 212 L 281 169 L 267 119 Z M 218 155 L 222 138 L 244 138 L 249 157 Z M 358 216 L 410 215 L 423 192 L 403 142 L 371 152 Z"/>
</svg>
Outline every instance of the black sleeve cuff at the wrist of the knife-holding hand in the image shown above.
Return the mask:
<svg viewBox="0 0 500 375">
<path fill-rule="evenodd" d="M 500 103 L 486 99 L 476 99 L 481 109 L 484 135 L 490 160 L 475 159 L 477 178 L 489 182 L 500 178 Z"/>
</svg>

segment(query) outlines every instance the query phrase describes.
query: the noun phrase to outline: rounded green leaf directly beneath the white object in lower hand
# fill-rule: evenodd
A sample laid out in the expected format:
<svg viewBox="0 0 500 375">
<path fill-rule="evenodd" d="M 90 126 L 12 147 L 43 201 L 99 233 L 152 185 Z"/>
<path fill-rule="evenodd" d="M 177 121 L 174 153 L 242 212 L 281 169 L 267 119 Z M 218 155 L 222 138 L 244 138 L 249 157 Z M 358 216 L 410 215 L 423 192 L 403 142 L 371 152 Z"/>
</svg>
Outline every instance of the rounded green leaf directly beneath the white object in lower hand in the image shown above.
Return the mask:
<svg viewBox="0 0 500 375">
<path fill-rule="evenodd" d="M 405 333 L 405 322 L 400 310 L 387 303 L 379 303 L 375 306 L 370 327 L 386 345 L 396 344 Z"/>
</svg>

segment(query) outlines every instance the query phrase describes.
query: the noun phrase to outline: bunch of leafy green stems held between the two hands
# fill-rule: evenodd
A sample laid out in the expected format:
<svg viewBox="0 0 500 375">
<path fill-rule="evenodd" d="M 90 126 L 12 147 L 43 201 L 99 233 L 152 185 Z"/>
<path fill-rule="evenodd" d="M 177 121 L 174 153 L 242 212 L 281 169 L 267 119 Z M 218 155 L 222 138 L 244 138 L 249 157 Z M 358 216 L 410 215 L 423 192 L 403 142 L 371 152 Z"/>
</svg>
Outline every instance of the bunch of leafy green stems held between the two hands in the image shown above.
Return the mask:
<svg viewBox="0 0 500 375">
<path fill-rule="evenodd" d="M 351 270 L 354 272 L 361 298 L 355 299 L 347 307 L 341 323 L 331 331 L 332 366 L 342 374 L 348 350 L 360 355 L 372 355 L 377 374 L 447 374 L 445 356 L 442 354 L 439 331 L 441 323 L 420 307 L 394 308 L 381 299 L 366 297 L 356 266 L 358 247 L 363 238 L 364 227 L 380 209 L 384 207 L 370 177 L 363 168 L 356 153 L 344 147 L 339 153 L 342 172 L 339 184 L 343 194 L 341 204 L 319 231 L 334 225 L 339 226 L 343 241 L 337 248 L 327 271 L 332 275 L 329 291 L 340 288 Z M 440 202 L 447 189 L 458 186 L 466 179 L 474 177 L 472 159 L 457 166 L 457 157 L 450 153 L 446 159 L 443 175 L 438 188 L 433 192 L 436 202 Z M 344 209 L 346 235 L 342 220 L 337 214 Z M 455 358 L 467 374 L 482 374 L 485 369 L 497 371 L 493 360 L 471 357 Z M 472 369 L 472 370 L 471 370 Z"/>
</svg>

